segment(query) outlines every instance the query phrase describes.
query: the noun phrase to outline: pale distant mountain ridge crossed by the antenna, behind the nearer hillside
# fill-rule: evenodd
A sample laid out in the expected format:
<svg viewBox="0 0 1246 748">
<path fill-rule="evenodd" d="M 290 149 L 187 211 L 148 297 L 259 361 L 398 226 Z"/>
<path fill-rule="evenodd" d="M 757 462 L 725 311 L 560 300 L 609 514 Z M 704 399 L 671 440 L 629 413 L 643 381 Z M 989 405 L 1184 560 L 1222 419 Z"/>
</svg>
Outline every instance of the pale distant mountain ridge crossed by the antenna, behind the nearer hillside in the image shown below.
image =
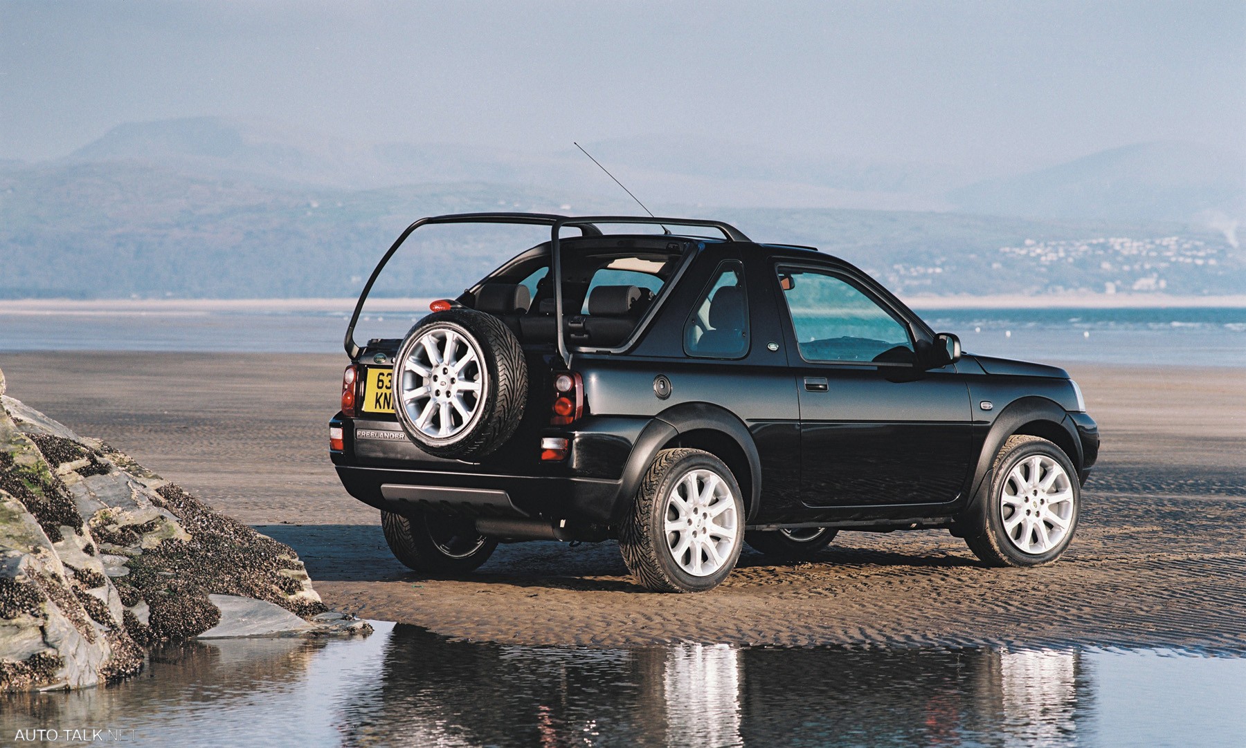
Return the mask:
<svg viewBox="0 0 1246 748">
<path fill-rule="evenodd" d="M 768 152 L 705 138 L 644 137 L 584 146 L 654 210 L 663 204 L 689 203 L 942 209 L 947 203 L 941 193 L 958 183 L 946 167 Z M 625 198 L 569 143 L 549 153 L 445 143 L 369 144 L 280 122 L 227 117 L 122 124 L 74 152 L 69 161 L 135 161 L 274 187 L 373 189 L 488 182 Z"/>
</svg>

